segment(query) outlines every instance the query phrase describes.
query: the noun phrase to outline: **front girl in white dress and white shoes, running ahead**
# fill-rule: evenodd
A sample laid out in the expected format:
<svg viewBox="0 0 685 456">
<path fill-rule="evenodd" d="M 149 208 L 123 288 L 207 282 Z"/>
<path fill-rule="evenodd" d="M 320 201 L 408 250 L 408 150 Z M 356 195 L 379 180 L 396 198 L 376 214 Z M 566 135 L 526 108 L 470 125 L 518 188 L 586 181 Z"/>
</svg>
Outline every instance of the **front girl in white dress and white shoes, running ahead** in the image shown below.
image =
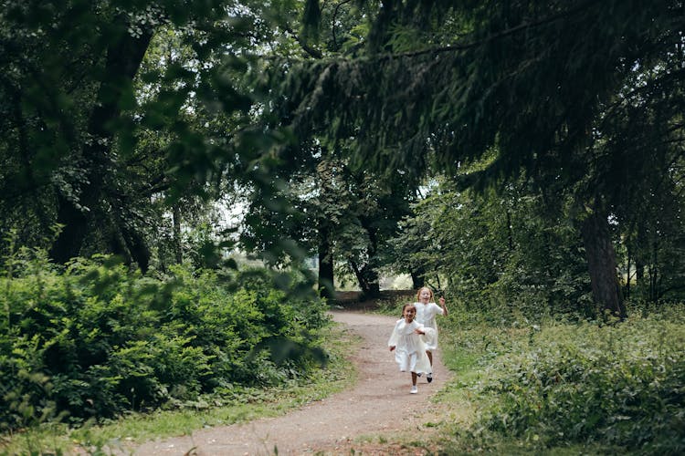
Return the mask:
<svg viewBox="0 0 685 456">
<path fill-rule="evenodd" d="M 416 374 L 429 372 L 430 361 L 427 357 L 426 346 L 421 336 L 432 333 L 432 329 L 426 328 L 416 322 L 416 306 L 406 304 L 402 308 L 402 316 L 395 323 L 393 334 L 388 340 L 390 351 L 395 350 L 395 361 L 399 365 L 401 372 L 407 370 L 412 373 L 411 394 L 416 394 Z"/>
</svg>

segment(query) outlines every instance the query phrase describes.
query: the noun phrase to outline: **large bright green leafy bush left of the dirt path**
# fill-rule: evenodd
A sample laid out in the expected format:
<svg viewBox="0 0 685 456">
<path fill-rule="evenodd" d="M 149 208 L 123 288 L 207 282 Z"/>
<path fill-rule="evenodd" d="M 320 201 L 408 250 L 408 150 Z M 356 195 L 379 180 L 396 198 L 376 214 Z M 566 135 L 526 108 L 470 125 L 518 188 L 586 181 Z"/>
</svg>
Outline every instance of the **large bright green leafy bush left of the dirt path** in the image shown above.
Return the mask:
<svg viewBox="0 0 685 456">
<path fill-rule="evenodd" d="M 27 250 L 12 262 L 13 273 L 0 279 L 0 430 L 64 413 L 72 422 L 112 417 L 306 375 L 311 357 L 280 366 L 258 352 L 284 337 L 312 353 L 326 322 L 313 294 L 290 292 L 311 290 L 295 274 L 177 267 L 155 279 L 106 257 L 59 271 Z M 274 374 L 259 378 L 260 368 Z"/>
</svg>

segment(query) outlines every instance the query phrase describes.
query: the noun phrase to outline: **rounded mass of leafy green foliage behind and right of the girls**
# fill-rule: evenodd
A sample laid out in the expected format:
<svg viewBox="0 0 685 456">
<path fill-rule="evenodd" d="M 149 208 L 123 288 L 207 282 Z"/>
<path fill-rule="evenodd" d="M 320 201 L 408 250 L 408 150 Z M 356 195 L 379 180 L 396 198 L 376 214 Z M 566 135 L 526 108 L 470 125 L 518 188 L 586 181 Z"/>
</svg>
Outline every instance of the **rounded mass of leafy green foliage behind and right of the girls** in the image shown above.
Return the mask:
<svg viewBox="0 0 685 456">
<path fill-rule="evenodd" d="M 595 315 L 577 231 L 522 182 L 473 192 L 437 181 L 414 211 L 395 239 L 396 267 L 423 268 L 449 299 L 492 318 Z"/>
</svg>

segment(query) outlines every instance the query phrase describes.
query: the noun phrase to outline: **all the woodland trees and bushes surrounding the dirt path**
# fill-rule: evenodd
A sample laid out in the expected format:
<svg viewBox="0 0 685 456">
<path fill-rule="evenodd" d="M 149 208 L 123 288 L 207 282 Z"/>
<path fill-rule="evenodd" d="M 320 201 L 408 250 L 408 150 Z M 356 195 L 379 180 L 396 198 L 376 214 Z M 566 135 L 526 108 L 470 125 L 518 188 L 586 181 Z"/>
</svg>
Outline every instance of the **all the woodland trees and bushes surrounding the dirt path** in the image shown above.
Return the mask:
<svg viewBox="0 0 685 456">
<path fill-rule="evenodd" d="M 307 378 L 407 274 L 578 331 L 488 429 L 682 451 L 684 8 L 5 0 L 2 430 Z"/>
</svg>

